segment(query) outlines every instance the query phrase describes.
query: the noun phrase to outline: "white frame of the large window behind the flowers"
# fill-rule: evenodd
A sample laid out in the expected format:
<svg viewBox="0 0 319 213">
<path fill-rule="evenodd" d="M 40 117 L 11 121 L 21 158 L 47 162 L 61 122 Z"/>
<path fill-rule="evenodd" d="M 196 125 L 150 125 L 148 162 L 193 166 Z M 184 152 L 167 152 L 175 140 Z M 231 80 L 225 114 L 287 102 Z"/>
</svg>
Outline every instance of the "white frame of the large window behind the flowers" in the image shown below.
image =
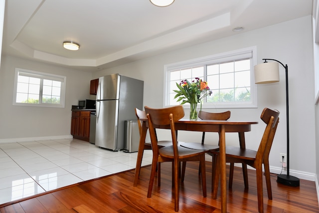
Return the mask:
<svg viewBox="0 0 319 213">
<path fill-rule="evenodd" d="M 203 66 L 212 63 L 222 63 L 229 60 L 240 60 L 247 58 L 247 55 L 251 56 L 250 64 L 250 97 L 249 102 L 216 102 L 216 103 L 202 103 L 202 108 L 257 108 L 257 85 L 254 82 L 254 65 L 257 64 L 257 47 L 247 47 L 243 49 L 233 50 L 215 55 L 209 55 L 200 58 L 194 58 L 186 61 L 180 61 L 176 63 L 164 65 L 164 94 L 163 94 L 163 107 L 169 105 L 169 82 L 170 82 L 170 71 L 176 69 L 185 69 L 189 67 Z M 207 82 L 208 86 L 210 82 Z M 177 89 L 177 87 L 176 87 Z M 184 104 L 185 108 L 189 108 L 189 105 Z"/>
</svg>

